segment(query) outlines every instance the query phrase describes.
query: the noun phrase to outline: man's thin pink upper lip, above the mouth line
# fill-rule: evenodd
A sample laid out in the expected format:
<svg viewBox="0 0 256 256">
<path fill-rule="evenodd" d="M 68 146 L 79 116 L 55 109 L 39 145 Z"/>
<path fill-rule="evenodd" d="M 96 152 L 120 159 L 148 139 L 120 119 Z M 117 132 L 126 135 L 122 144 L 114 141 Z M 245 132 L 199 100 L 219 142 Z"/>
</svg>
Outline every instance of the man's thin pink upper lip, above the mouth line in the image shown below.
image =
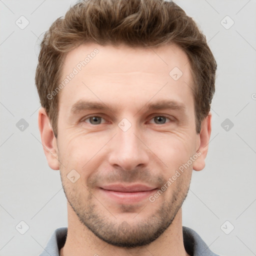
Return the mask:
<svg viewBox="0 0 256 256">
<path fill-rule="evenodd" d="M 138 192 L 138 191 L 150 191 L 156 187 L 144 185 L 144 184 L 108 184 L 100 186 L 105 190 L 119 191 L 119 192 Z"/>
</svg>

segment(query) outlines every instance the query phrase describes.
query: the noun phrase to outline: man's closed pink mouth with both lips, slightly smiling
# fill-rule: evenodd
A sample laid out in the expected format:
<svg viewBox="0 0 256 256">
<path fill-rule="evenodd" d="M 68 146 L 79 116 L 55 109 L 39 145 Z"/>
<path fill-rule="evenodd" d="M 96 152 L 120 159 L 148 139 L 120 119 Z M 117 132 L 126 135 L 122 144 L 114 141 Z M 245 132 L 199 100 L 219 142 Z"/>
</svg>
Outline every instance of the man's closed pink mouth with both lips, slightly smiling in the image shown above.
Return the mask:
<svg viewBox="0 0 256 256">
<path fill-rule="evenodd" d="M 99 188 L 104 196 L 117 203 L 140 202 L 143 199 L 148 198 L 150 194 L 157 190 L 157 187 L 144 184 L 109 184 Z"/>
</svg>

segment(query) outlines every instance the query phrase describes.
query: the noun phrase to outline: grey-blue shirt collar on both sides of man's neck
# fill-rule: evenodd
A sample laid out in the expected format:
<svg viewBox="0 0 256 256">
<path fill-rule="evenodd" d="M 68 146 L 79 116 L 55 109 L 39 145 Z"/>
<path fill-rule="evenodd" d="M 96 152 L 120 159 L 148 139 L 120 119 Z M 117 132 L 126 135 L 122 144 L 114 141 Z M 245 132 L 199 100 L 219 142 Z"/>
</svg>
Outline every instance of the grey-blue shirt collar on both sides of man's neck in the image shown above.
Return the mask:
<svg viewBox="0 0 256 256">
<path fill-rule="evenodd" d="M 65 244 L 66 234 L 67 227 L 57 228 L 39 256 L 59 256 L 59 250 Z M 185 250 L 190 256 L 219 256 L 208 248 L 194 230 L 185 226 L 183 226 L 183 242 Z"/>
</svg>

